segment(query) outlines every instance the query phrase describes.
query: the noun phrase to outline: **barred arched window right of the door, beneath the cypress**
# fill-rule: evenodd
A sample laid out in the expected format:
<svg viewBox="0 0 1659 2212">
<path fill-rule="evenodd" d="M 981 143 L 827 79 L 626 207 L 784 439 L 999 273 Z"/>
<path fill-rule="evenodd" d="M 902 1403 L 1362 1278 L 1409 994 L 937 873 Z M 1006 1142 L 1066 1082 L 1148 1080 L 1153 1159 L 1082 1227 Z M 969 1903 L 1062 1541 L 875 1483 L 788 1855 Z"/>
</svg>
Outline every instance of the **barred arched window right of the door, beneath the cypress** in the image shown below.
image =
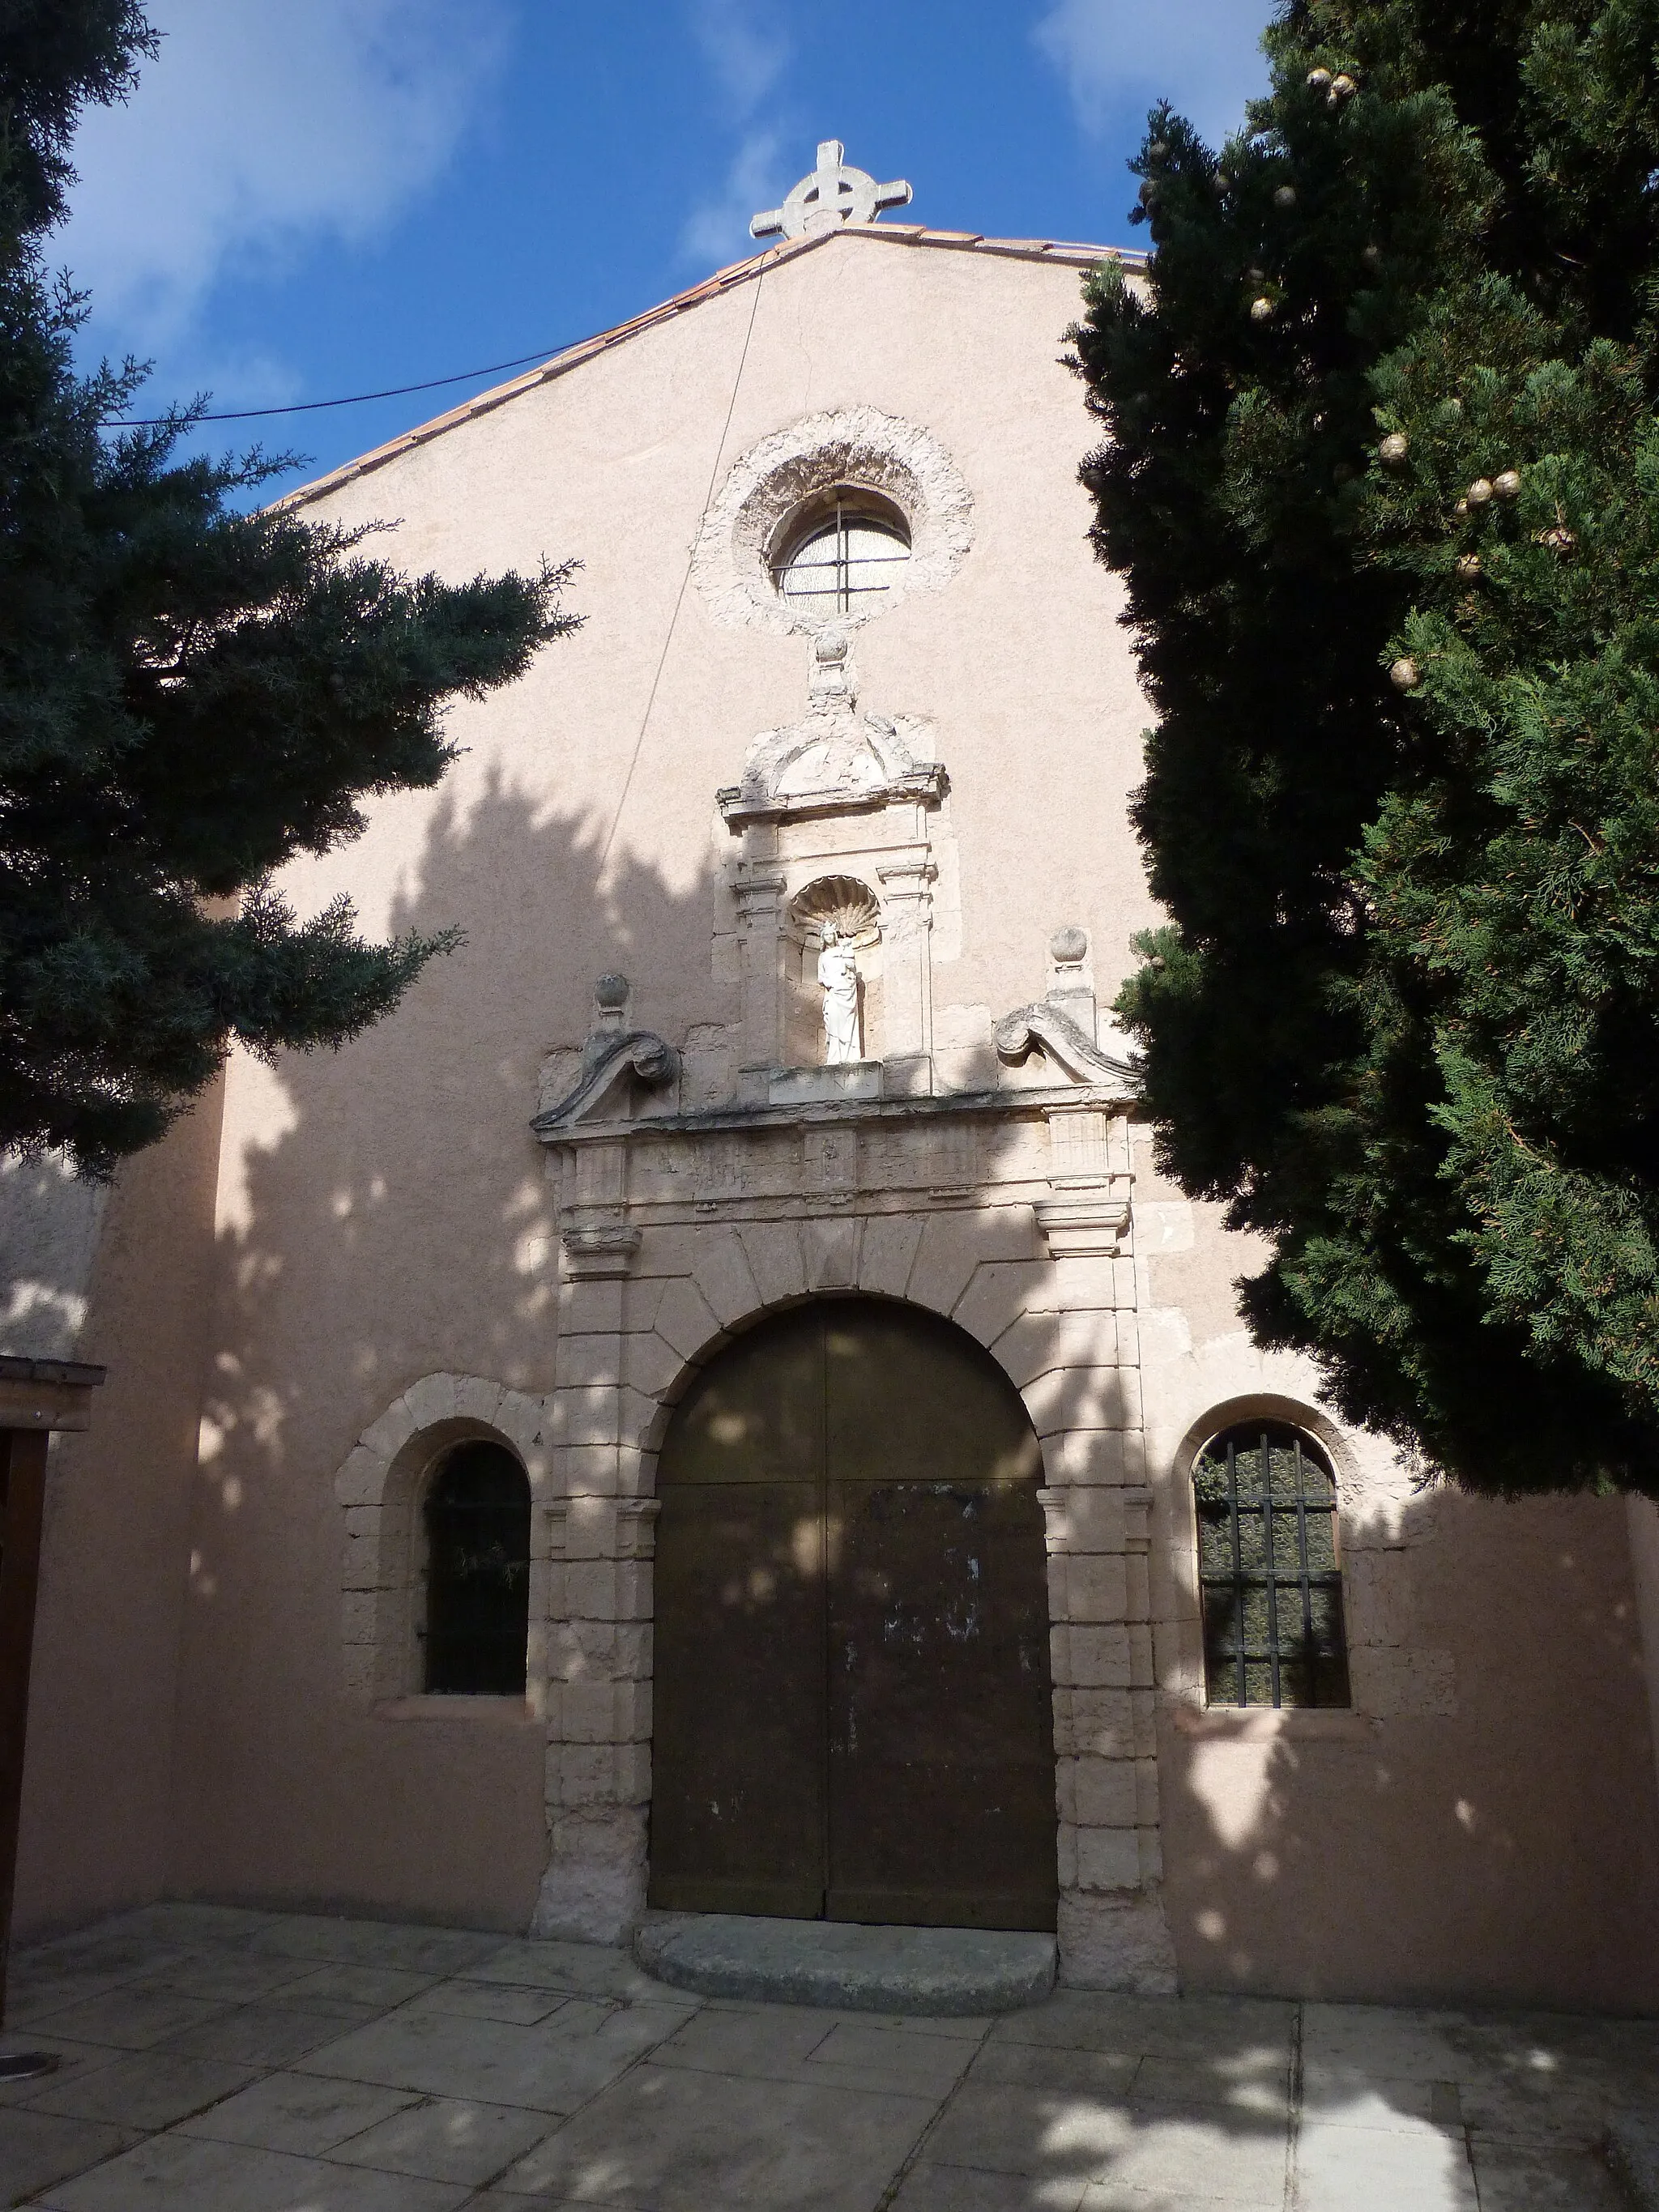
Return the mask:
<svg viewBox="0 0 1659 2212">
<path fill-rule="evenodd" d="M 1347 1705 L 1336 1475 L 1285 1422 L 1197 1458 L 1203 1683 L 1212 1705 Z"/>
</svg>

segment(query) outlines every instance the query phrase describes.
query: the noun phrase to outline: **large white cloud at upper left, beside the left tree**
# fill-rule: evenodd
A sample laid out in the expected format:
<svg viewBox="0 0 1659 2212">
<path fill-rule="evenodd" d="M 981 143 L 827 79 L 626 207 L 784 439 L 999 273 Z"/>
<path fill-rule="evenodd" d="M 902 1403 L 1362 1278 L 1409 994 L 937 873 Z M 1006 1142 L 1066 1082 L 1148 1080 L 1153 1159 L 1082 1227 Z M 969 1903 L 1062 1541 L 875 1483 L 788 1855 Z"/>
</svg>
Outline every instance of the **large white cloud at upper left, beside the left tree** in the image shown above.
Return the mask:
<svg viewBox="0 0 1659 2212">
<path fill-rule="evenodd" d="M 504 46 L 504 0 L 157 0 L 159 60 L 93 108 L 53 259 L 139 352 L 217 276 L 374 237 L 442 170 Z"/>
</svg>

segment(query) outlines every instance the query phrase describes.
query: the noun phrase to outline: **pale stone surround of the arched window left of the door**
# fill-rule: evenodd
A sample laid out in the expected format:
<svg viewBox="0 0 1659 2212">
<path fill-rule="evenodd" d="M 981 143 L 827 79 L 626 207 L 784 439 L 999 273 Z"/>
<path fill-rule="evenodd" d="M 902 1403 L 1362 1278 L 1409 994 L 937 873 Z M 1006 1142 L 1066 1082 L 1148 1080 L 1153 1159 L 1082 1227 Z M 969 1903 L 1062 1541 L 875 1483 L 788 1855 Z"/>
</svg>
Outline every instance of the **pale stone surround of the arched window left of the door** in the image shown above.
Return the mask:
<svg viewBox="0 0 1659 2212">
<path fill-rule="evenodd" d="M 345 1690 L 387 1719 L 538 1714 L 546 1699 L 551 1453 L 546 1400 L 484 1376 L 429 1374 L 411 1383 L 352 1447 L 334 1475 L 345 1515 L 341 1648 Z M 447 1451 L 502 1444 L 531 1484 L 531 1632 L 524 1699 L 427 1697 L 420 1683 L 420 1500 Z"/>
</svg>

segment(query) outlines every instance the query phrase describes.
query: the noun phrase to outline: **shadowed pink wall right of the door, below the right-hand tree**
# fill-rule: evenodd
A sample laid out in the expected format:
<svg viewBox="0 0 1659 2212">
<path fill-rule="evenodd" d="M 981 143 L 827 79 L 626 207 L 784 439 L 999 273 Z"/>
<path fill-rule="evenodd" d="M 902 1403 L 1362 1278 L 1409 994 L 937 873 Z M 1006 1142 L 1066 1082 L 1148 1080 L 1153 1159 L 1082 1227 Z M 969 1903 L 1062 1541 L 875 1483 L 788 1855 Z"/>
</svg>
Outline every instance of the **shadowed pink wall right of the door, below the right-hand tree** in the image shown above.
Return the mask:
<svg viewBox="0 0 1659 2212">
<path fill-rule="evenodd" d="M 1347 1513 L 1345 1593 L 1358 1725 L 1206 1714 L 1188 1732 L 1164 1712 L 1186 1984 L 1659 2008 L 1621 1500 L 1436 1489 Z"/>
</svg>

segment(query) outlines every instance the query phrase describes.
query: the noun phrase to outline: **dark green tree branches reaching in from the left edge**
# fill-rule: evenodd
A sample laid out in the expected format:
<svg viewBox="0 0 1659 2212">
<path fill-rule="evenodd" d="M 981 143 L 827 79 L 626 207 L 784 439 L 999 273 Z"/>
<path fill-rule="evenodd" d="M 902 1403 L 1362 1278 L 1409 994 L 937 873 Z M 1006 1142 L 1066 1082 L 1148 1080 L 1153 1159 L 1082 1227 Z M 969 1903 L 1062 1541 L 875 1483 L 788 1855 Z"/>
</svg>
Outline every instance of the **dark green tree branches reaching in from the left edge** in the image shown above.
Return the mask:
<svg viewBox="0 0 1659 2212">
<path fill-rule="evenodd" d="M 234 495 L 281 462 L 111 431 L 46 268 L 73 122 L 155 49 L 131 0 L 0 0 L 0 1144 L 82 1170 L 153 1144 L 223 1062 L 338 1044 L 449 938 L 299 922 L 270 876 L 436 783 L 442 708 L 568 628 L 560 571 L 409 582 L 363 533 Z"/>
</svg>

